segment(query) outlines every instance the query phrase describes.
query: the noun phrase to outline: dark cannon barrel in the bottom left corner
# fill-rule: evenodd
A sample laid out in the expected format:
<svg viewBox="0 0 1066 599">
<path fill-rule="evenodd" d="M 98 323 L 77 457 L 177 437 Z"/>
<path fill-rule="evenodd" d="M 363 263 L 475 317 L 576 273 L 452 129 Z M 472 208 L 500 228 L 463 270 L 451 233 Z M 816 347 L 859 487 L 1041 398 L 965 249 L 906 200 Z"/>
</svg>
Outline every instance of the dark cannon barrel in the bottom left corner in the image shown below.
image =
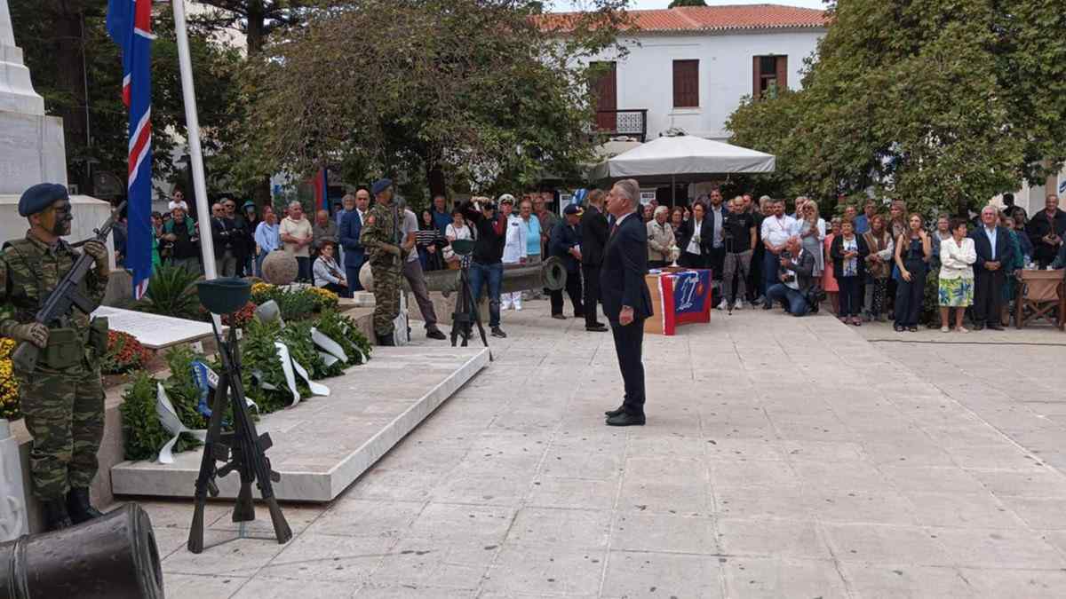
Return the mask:
<svg viewBox="0 0 1066 599">
<path fill-rule="evenodd" d="M 60 531 L 0 544 L 0 599 L 156 599 L 163 572 L 135 503 Z"/>
</svg>

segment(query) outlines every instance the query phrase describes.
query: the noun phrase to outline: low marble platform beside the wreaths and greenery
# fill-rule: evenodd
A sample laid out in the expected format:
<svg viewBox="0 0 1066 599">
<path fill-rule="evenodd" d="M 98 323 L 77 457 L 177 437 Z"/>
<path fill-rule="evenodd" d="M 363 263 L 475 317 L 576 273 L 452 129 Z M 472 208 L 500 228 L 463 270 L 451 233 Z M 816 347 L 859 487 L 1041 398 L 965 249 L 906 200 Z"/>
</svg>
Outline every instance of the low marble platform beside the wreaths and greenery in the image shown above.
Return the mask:
<svg viewBox="0 0 1066 599">
<path fill-rule="evenodd" d="M 268 451 L 281 481 L 280 500 L 327 502 L 341 493 L 407 433 L 488 365 L 485 347 L 375 347 L 373 358 L 335 378 L 326 398 L 264 416 Z M 174 464 L 124 462 L 111 469 L 115 495 L 192 497 L 201 451 L 179 453 Z M 233 498 L 236 474 L 219 479 L 221 497 Z M 258 491 L 256 491 L 258 492 Z"/>
</svg>

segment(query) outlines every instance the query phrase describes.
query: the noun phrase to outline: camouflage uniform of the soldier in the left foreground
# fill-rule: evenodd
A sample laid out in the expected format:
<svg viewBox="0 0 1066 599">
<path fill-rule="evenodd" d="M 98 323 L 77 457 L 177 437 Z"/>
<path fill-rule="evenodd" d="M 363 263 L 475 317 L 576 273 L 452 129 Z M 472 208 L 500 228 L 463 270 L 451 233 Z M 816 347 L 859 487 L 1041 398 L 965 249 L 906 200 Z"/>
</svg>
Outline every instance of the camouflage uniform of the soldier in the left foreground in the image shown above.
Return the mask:
<svg viewBox="0 0 1066 599">
<path fill-rule="evenodd" d="M 11 337 L 13 327 L 33 322 L 41 304 L 78 256 L 62 240 L 49 246 L 32 233 L 4 245 L 0 254 L 0 335 Z M 80 290 L 99 305 L 107 286 L 107 277 L 93 270 Z M 52 338 L 58 337 L 51 335 L 33 372 L 15 369 L 26 426 L 33 435 L 33 492 L 43 500 L 61 499 L 71 487 L 90 486 L 103 438 L 103 384 L 96 350 L 88 344 L 88 315 L 72 310 L 67 328 L 78 336 L 80 360 L 62 370 L 49 368 L 46 355 L 53 349 Z"/>
</svg>

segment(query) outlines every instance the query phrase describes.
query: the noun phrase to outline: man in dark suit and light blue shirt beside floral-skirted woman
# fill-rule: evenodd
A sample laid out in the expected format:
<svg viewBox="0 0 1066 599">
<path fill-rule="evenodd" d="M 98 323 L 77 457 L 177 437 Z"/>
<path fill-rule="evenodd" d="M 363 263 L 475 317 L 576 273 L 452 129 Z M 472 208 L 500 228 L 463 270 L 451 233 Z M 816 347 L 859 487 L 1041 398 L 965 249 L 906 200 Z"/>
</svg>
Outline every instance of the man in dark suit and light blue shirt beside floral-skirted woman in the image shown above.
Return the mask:
<svg viewBox="0 0 1066 599">
<path fill-rule="evenodd" d="M 1003 261 L 1011 252 L 1011 237 L 999 226 L 999 210 L 986 206 L 981 210 L 981 226 L 970 233 L 978 261 L 973 264 L 973 328 L 1000 326 L 1003 304 Z"/>
</svg>

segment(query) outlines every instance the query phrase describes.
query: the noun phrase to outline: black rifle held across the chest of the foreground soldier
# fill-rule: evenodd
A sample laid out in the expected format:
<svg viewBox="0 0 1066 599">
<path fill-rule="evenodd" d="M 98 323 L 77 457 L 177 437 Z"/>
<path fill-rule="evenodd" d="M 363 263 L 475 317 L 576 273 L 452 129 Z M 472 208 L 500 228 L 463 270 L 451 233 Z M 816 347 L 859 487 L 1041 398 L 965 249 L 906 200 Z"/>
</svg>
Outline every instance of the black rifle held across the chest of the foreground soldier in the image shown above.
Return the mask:
<svg viewBox="0 0 1066 599">
<path fill-rule="evenodd" d="M 108 236 L 111 234 L 111 229 L 115 224 L 115 215 L 120 214 L 123 209 L 126 208 L 126 203 L 123 201 L 118 205 L 118 208 L 112 212 L 111 216 L 103 222 L 103 225 L 98 229 L 93 229 L 92 240 L 99 241 L 101 243 L 108 240 Z M 84 245 L 85 242 L 90 241 L 86 239 L 84 241 L 78 242 L 74 246 Z M 67 274 L 60 279 L 59 285 L 55 289 L 48 294 L 48 298 L 42 304 L 41 309 L 37 310 L 36 315 L 33 317 L 34 322 L 38 322 L 45 326 L 51 326 L 52 324 L 65 325 L 66 321 L 70 317 L 70 311 L 74 308 L 78 308 L 82 312 L 88 314 L 92 313 L 96 306 L 82 295 L 79 287 L 81 282 L 85 280 L 85 276 L 88 275 L 90 271 L 95 266 L 95 260 L 88 254 L 82 253 L 74 262 L 74 266 L 67 271 Z M 22 372 L 33 372 L 37 367 L 37 358 L 41 357 L 41 349 L 30 343 L 29 341 L 22 341 L 15 349 L 15 352 L 11 355 L 12 362 Z"/>
</svg>

